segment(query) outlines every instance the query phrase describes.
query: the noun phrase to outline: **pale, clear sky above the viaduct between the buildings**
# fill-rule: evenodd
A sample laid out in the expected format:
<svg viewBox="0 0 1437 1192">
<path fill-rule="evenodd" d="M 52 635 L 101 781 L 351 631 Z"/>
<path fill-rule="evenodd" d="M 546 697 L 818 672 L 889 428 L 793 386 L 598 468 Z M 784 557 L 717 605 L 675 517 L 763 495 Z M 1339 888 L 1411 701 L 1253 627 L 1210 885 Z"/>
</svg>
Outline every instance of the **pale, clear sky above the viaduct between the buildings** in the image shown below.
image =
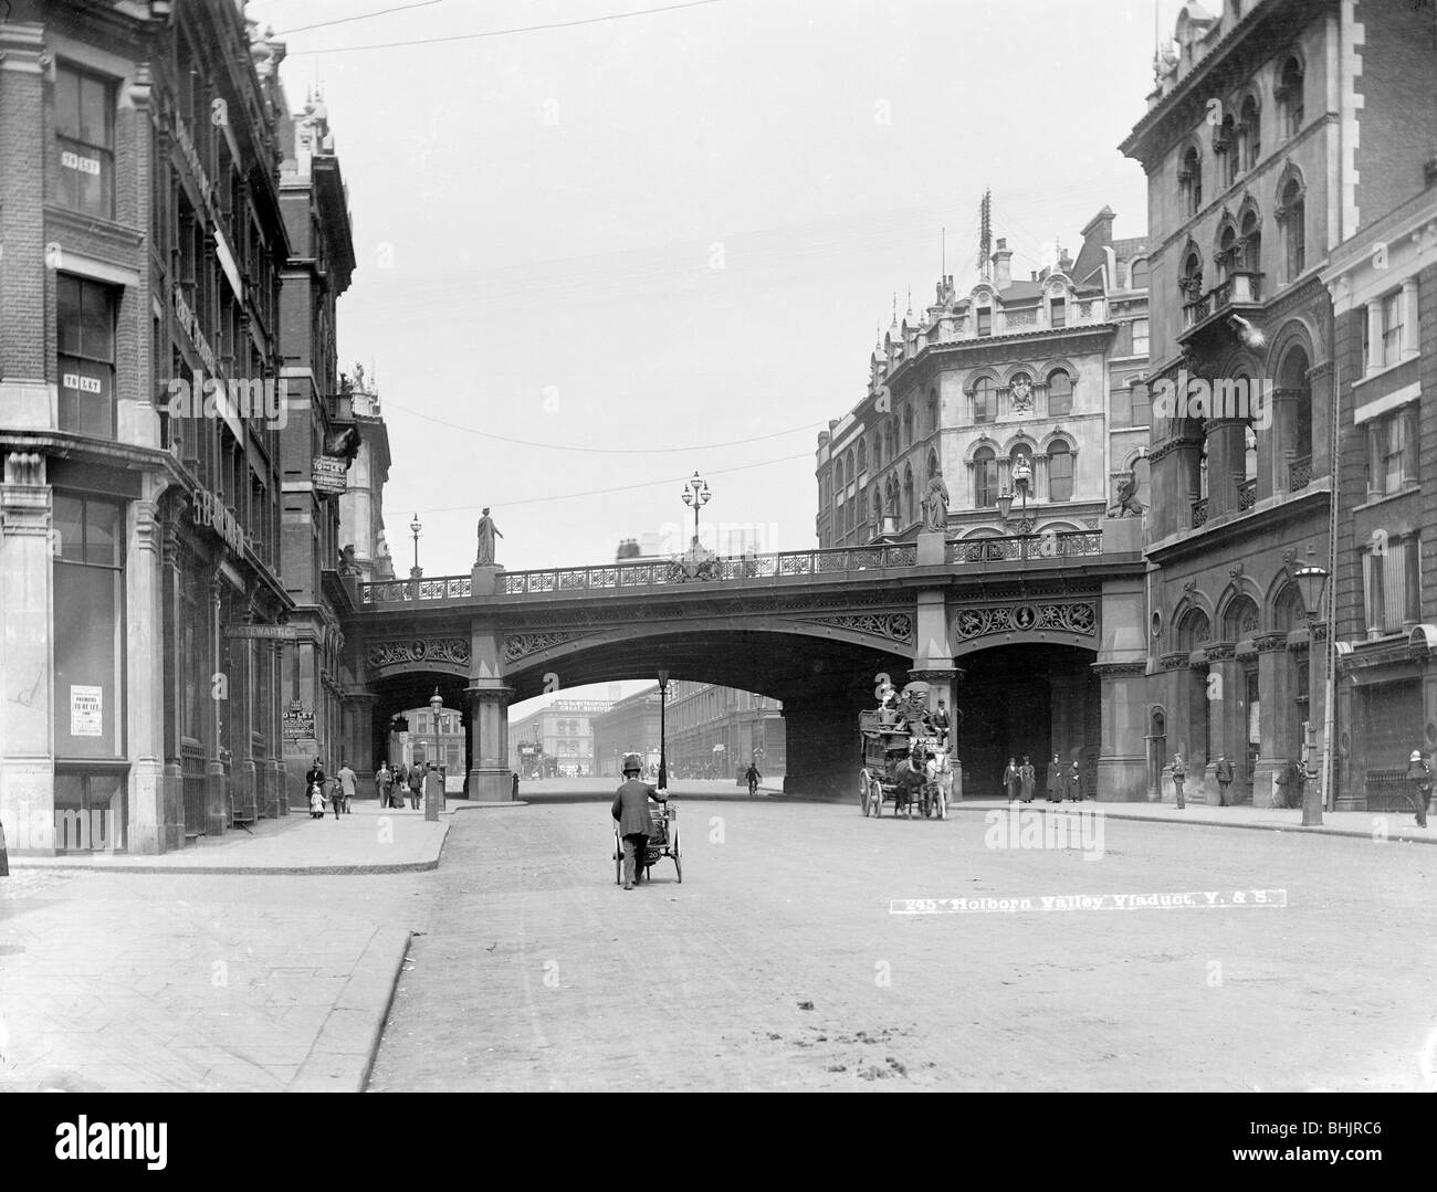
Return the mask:
<svg viewBox="0 0 1437 1192">
<path fill-rule="evenodd" d="M 1019 276 L 1105 204 L 1115 236 L 1145 231 L 1117 145 L 1151 89 L 1154 0 L 624 16 L 657 7 L 250 4 L 287 43 L 292 106 L 323 89 L 358 259 L 341 368 L 378 383 L 401 573 L 414 514 L 425 574 L 467 573 L 483 506 L 510 572 L 684 543 L 694 471 L 706 523 L 810 549 L 818 432 L 862 398 L 895 303 L 933 302 L 944 251 L 971 284 L 984 188 Z"/>
</svg>

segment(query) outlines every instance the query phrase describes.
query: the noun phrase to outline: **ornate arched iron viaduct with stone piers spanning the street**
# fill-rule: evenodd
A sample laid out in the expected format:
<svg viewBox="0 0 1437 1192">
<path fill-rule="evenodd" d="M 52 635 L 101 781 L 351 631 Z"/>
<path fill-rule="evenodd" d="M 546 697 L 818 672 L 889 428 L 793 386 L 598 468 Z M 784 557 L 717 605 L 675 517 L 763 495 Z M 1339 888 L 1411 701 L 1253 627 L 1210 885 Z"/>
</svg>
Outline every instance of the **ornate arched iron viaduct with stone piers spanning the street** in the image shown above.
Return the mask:
<svg viewBox="0 0 1437 1192">
<path fill-rule="evenodd" d="M 1089 788 L 1142 798 L 1141 521 L 1040 536 L 915 541 L 355 583 L 345 622 L 351 757 L 437 686 L 466 722 L 470 798 L 510 797 L 507 707 L 546 689 L 639 679 L 783 701 L 786 791 L 856 800 L 856 724 L 881 676 L 933 684 L 954 717 L 966 791 L 1010 753 L 1078 758 Z"/>
</svg>

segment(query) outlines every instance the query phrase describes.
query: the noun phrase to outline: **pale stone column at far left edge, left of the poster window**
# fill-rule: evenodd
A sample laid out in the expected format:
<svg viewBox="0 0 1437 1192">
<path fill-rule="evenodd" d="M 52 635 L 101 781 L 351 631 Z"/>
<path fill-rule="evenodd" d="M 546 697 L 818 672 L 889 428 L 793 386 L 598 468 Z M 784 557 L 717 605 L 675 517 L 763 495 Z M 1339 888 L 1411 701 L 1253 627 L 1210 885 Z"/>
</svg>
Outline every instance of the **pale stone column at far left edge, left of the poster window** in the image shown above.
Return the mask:
<svg viewBox="0 0 1437 1192">
<path fill-rule="evenodd" d="M 11 853 L 55 855 L 50 754 L 50 490 L 45 457 L 10 452 L 0 485 L 0 817 Z"/>
</svg>

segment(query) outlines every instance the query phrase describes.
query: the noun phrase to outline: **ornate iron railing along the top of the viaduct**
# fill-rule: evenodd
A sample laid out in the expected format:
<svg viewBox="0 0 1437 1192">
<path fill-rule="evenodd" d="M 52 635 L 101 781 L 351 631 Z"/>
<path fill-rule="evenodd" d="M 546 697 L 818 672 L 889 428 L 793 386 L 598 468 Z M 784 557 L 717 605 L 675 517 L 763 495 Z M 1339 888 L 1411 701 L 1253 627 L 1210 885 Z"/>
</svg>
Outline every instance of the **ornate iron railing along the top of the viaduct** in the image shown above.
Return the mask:
<svg viewBox="0 0 1437 1192">
<path fill-rule="evenodd" d="M 947 543 L 950 564 L 1002 560 L 1068 559 L 1102 554 L 1102 530 L 1019 534 L 1002 539 L 967 539 Z M 500 572 L 503 596 L 563 592 L 615 592 L 625 587 L 668 587 L 683 583 L 773 580 L 800 576 L 838 576 L 918 566 L 915 543 L 858 546 L 828 550 L 790 550 L 706 560 L 661 559 L 644 563 L 609 563 L 595 567 L 546 567 Z M 470 576 L 421 580 L 382 580 L 361 585 L 361 603 L 412 603 L 453 600 L 473 595 Z"/>
</svg>

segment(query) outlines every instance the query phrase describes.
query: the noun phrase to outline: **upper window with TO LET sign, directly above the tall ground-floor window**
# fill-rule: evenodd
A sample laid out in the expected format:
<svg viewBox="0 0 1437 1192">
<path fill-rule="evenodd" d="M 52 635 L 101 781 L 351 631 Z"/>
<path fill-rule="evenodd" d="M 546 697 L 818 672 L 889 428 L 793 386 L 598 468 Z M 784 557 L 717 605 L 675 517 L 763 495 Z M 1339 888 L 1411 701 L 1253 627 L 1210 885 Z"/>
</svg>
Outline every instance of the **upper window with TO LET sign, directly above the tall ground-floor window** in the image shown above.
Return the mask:
<svg viewBox="0 0 1437 1192">
<path fill-rule="evenodd" d="M 115 292 L 59 274 L 56 343 L 60 429 L 115 438 Z"/>
</svg>

